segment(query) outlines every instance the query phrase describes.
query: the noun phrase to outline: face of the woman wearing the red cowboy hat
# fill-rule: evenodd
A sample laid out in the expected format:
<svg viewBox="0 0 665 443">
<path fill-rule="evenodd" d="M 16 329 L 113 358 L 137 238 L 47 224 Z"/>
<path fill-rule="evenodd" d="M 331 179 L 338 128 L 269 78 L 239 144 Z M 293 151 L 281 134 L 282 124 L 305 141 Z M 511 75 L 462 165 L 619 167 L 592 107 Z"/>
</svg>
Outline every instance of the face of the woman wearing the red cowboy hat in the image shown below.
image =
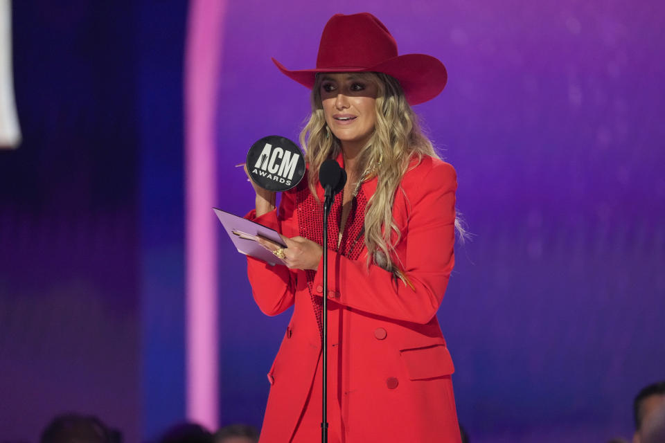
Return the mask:
<svg viewBox="0 0 665 443">
<path fill-rule="evenodd" d="M 326 123 L 342 147 L 362 148 L 374 132 L 378 87 L 354 73 L 326 73 L 321 102 Z"/>
</svg>

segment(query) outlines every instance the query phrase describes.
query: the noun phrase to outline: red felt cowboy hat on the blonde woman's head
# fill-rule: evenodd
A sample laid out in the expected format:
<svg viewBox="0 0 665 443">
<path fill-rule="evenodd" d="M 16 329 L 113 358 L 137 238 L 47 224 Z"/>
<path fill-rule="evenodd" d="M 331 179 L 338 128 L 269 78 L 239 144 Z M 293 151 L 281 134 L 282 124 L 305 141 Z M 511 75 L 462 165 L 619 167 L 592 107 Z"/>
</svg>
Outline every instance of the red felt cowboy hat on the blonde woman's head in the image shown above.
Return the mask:
<svg viewBox="0 0 665 443">
<path fill-rule="evenodd" d="M 448 75 L 430 55 L 397 55 L 397 43 L 379 19 L 369 14 L 333 15 L 323 28 L 316 69 L 289 71 L 272 59 L 287 77 L 314 87 L 319 72 L 382 72 L 396 78 L 411 105 L 438 96 Z"/>
</svg>

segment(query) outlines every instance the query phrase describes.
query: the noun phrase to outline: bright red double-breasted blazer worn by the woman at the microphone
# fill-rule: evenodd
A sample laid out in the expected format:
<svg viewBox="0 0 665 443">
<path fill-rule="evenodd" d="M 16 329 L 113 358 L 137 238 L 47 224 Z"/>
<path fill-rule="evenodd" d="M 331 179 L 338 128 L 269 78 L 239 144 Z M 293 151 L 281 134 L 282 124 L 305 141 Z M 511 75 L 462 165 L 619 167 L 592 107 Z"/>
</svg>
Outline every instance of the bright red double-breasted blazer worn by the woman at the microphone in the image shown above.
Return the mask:
<svg viewBox="0 0 665 443">
<path fill-rule="evenodd" d="M 376 179 L 362 187 L 369 199 Z M 328 414 L 343 422 L 344 442 L 460 441 L 454 368 L 436 319 L 454 264 L 456 187 L 452 166 L 425 156 L 412 161 L 396 192 L 393 216 L 402 235 L 393 259 L 415 290 L 378 266 L 368 271 L 366 248 L 358 260 L 328 251 Z M 320 186 L 317 192 L 322 201 Z M 294 192 L 284 192 L 278 214 L 255 220 L 295 237 L 297 212 Z M 322 268 L 313 284 L 318 293 Z M 248 257 L 247 273 L 265 314 L 295 305 L 268 373 L 272 386 L 260 440 L 289 442 L 317 370 L 319 328 L 304 271 Z"/>
</svg>

